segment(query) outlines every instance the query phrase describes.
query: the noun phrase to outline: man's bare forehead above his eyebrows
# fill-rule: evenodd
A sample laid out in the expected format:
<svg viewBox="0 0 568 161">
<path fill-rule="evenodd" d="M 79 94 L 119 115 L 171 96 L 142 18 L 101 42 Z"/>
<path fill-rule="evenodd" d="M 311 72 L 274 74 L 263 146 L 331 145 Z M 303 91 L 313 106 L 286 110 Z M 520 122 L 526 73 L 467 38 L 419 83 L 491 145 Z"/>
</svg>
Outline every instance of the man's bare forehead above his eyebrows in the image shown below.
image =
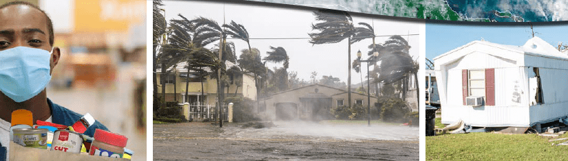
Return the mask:
<svg viewBox="0 0 568 161">
<path fill-rule="evenodd" d="M 47 32 L 45 15 L 28 5 L 10 5 L 0 9 L 0 31 L 16 30 L 21 32 L 25 28 L 38 28 Z"/>
</svg>

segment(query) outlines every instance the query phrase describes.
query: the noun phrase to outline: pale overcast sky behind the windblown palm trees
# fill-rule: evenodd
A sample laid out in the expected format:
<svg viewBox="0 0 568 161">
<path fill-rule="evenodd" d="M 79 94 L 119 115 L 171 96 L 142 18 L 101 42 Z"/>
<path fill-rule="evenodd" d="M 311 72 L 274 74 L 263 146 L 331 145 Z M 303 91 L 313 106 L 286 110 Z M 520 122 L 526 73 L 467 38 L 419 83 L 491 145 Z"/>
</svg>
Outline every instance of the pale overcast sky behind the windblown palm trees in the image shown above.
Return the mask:
<svg viewBox="0 0 568 161">
<path fill-rule="evenodd" d="M 223 23 L 225 16 L 226 23 L 231 20 L 244 25 L 251 38 L 306 38 L 288 40 L 250 40 L 251 47 L 260 50 L 262 58 L 266 57 L 266 52 L 271 51 L 270 46 L 284 47 L 290 57 L 288 71 L 297 71 L 300 79 L 309 80 L 311 73 L 317 71 L 317 79 L 322 75 L 332 75 L 339 77 L 342 82 L 347 82 L 348 76 L 348 42 L 347 39 L 335 44 L 312 45 L 308 42 L 308 33 L 313 32 L 312 23 L 316 23 L 313 10 L 296 10 L 293 8 L 276 8 L 266 5 L 250 5 L 238 3 L 222 3 L 215 1 L 164 1 L 165 17 L 167 21 L 172 18 L 179 19 L 178 14 L 193 19 L 198 16 L 211 18 L 218 24 Z M 223 9 L 224 8 L 224 9 Z M 353 16 L 353 22 L 374 23 L 376 35 L 401 35 L 407 39 L 410 46 L 410 55 L 414 60 L 419 55 L 419 36 L 406 36 L 407 34 L 419 33 L 420 23 L 414 21 L 399 21 L 392 19 L 379 19 L 371 17 Z M 423 35 L 421 35 L 423 36 Z M 383 43 L 388 37 L 375 38 L 376 43 Z M 237 56 L 242 49 L 248 49 L 246 42 L 242 40 L 228 40 L 235 42 Z M 361 42 L 351 45 L 351 60 L 357 58 L 357 51 L 360 49 L 364 53 L 363 58 L 367 58 L 366 53 L 370 50 L 368 45 L 372 39 L 368 38 Z M 421 58 L 423 59 L 423 58 Z M 268 64 L 270 69 L 273 66 L 282 67 L 282 64 Z M 366 77 L 364 71 L 363 77 Z M 352 84 L 361 82 L 359 73 L 352 71 Z"/>
</svg>

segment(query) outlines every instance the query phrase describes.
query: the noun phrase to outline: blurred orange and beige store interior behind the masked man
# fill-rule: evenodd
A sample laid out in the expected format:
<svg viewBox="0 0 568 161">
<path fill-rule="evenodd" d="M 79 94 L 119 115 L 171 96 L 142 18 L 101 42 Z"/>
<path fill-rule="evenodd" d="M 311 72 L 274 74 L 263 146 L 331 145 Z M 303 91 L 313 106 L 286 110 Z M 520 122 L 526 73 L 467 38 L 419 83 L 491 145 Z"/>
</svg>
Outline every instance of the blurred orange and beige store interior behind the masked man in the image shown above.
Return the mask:
<svg viewBox="0 0 568 161">
<path fill-rule="evenodd" d="M 132 159 L 146 160 L 146 1 L 28 2 L 50 16 L 61 49 L 48 98 L 127 136 Z"/>
</svg>

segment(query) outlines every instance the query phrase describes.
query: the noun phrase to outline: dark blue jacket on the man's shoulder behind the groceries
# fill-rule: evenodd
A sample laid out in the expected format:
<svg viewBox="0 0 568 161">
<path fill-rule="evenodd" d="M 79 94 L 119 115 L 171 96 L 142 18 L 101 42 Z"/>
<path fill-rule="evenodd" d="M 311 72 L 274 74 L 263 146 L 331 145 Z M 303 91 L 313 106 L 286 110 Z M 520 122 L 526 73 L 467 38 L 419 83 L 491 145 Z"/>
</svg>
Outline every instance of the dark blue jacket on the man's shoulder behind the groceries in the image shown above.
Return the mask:
<svg viewBox="0 0 568 161">
<path fill-rule="evenodd" d="M 76 121 L 81 119 L 81 117 L 83 117 L 83 115 L 78 114 L 77 112 L 74 112 L 72 110 L 64 108 L 63 106 L 59 106 L 58 104 L 53 103 L 50 99 L 48 99 L 48 104 L 50 105 L 50 108 L 52 110 L 53 123 L 71 126 Z M 92 137 L 94 135 L 95 129 L 104 129 L 108 131 L 105 125 L 101 124 L 101 122 L 95 121 L 95 123 L 91 125 L 91 127 L 89 127 L 84 134 Z"/>
</svg>

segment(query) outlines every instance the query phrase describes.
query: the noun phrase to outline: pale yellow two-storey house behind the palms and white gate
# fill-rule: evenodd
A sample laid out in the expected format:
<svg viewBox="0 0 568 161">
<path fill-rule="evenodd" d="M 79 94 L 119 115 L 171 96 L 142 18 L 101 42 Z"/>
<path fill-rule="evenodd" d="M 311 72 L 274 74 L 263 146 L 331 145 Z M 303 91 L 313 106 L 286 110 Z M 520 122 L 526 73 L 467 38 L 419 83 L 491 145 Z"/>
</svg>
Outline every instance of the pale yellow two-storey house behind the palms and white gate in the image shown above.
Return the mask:
<svg viewBox="0 0 568 161">
<path fill-rule="evenodd" d="M 186 62 L 180 62 L 176 66 L 175 71 L 168 71 L 170 73 L 165 76 L 164 81 L 166 81 L 166 101 L 178 101 L 179 103 L 196 103 L 198 100 L 203 99 L 204 103 L 213 105 L 217 99 L 217 79 L 211 79 L 209 76 L 205 76 L 202 79 L 198 77 L 198 73 L 189 72 L 189 86 L 187 88 L 187 95 L 189 99 L 185 97 L 186 89 L 186 79 L 187 69 L 184 68 Z M 231 62 L 227 62 L 227 66 L 235 66 Z M 156 79 L 158 83 L 158 96 L 162 96 L 162 76 L 161 69 L 156 69 Z M 256 87 L 254 82 L 254 76 L 251 74 L 244 75 L 229 75 L 229 86 L 225 86 L 224 93 L 225 97 L 233 97 L 233 95 L 238 95 L 246 97 L 249 99 L 256 99 Z M 174 82 L 176 86 L 174 86 Z M 202 86 L 203 85 L 203 86 Z M 202 88 L 203 87 L 203 88 Z M 174 90 L 175 88 L 175 90 Z M 203 91 L 203 92 L 202 92 Z M 236 94 L 235 94 L 236 93 Z M 174 100 L 175 97 L 177 100 Z"/>
</svg>

